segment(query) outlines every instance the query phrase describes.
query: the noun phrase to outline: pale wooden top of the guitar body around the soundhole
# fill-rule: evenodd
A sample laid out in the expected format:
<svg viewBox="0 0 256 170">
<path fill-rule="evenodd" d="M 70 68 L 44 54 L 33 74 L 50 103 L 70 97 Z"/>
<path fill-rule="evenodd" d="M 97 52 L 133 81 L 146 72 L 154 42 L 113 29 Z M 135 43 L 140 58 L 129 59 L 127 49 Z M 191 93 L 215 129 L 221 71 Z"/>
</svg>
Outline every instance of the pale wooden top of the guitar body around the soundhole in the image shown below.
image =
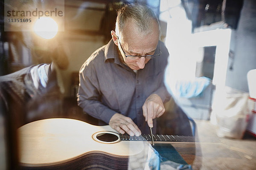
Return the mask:
<svg viewBox="0 0 256 170">
<path fill-rule="evenodd" d="M 102 140 L 105 134 L 112 140 Z M 121 141 L 109 125 L 95 126 L 75 119 L 43 119 L 18 128 L 20 163 L 44 166 L 64 163 L 91 153 L 128 157 L 143 153 L 148 142 Z"/>
</svg>

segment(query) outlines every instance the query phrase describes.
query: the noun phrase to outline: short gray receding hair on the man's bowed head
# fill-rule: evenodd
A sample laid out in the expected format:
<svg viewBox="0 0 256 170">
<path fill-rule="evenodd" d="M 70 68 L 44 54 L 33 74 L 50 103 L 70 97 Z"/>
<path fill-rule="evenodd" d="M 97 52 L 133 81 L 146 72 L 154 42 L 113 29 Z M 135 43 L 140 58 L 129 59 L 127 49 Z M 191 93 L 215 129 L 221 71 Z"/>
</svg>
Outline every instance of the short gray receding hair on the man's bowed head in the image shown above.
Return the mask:
<svg viewBox="0 0 256 170">
<path fill-rule="evenodd" d="M 116 17 L 116 34 L 122 39 L 122 33 L 125 27 L 125 23 L 129 20 L 133 20 L 137 28 L 141 31 L 142 35 L 147 35 L 151 33 L 152 20 L 157 22 L 159 28 L 159 39 L 161 37 L 161 29 L 159 21 L 148 6 L 140 3 L 125 5 L 117 11 Z"/>
</svg>

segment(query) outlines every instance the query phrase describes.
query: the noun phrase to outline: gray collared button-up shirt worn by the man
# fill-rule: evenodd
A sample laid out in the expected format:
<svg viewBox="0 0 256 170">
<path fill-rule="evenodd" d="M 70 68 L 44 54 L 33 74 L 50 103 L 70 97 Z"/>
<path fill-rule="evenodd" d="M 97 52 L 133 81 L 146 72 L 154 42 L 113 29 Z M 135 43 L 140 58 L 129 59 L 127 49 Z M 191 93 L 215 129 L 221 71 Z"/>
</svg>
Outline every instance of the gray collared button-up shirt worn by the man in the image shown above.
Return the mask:
<svg viewBox="0 0 256 170">
<path fill-rule="evenodd" d="M 151 94 L 158 94 L 163 102 L 170 97 L 163 83 L 169 53 L 160 43 L 162 54 L 150 59 L 137 73 L 120 61 L 112 40 L 96 50 L 79 71 L 78 105 L 106 123 L 115 113 L 121 113 L 130 117 L 142 133 L 149 134 L 142 109 L 145 100 Z"/>
</svg>

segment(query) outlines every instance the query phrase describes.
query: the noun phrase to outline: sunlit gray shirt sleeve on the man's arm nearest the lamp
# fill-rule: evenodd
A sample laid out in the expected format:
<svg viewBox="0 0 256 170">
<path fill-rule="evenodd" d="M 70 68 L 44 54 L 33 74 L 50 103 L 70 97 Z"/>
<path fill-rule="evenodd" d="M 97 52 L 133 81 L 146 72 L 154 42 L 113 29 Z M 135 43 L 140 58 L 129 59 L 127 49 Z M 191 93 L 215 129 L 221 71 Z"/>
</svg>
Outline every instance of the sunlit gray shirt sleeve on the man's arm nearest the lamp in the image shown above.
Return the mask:
<svg viewBox="0 0 256 170">
<path fill-rule="evenodd" d="M 78 105 L 84 112 L 109 123 L 116 113 L 101 102 L 101 91 L 93 64 L 85 63 L 79 71 Z"/>
</svg>

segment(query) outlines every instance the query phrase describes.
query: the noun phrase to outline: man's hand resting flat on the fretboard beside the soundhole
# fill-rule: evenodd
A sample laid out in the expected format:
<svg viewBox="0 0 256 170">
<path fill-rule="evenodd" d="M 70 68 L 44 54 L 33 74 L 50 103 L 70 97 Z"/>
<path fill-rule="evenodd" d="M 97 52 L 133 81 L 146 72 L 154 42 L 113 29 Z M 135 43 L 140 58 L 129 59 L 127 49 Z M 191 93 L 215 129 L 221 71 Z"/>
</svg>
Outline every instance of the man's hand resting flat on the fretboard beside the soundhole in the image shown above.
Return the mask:
<svg viewBox="0 0 256 170">
<path fill-rule="evenodd" d="M 126 117 L 120 113 L 115 113 L 110 121 L 109 121 L 110 127 L 117 130 L 119 133 L 124 134 L 125 132 L 128 133 L 130 136 L 140 136 L 141 131 L 139 127 L 132 121 L 131 118 Z"/>
</svg>

